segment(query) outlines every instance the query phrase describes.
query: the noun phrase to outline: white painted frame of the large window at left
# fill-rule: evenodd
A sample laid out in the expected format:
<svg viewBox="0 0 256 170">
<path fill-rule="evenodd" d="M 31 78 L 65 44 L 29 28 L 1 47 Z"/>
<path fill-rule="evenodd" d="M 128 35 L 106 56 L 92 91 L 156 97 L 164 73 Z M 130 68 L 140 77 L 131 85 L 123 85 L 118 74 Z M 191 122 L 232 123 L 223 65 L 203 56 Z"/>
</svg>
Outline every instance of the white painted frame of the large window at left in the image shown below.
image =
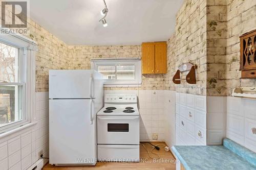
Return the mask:
<svg viewBox="0 0 256 170">
<path fill-rule="evenodd" d="M 20 83 L 1 83 L 0 85 L 21 85 L 23 87 L 22 99 L 22 120 L 7 124 L 0 128 L 3 134 L 19 129 L 33 122 L 31 120 L 32 113 L 35 113 L 35 43 L 32 42 L 33 48 L 28 46 L 28 38 L 19 35 L 0 34 L 0 42 L 13 45 L 19 48 L 19 77 Z M 31 45 L 31 43 L 30 43 Z M 1 134 L 0 134 L 1 135 Z"/>
</svg>

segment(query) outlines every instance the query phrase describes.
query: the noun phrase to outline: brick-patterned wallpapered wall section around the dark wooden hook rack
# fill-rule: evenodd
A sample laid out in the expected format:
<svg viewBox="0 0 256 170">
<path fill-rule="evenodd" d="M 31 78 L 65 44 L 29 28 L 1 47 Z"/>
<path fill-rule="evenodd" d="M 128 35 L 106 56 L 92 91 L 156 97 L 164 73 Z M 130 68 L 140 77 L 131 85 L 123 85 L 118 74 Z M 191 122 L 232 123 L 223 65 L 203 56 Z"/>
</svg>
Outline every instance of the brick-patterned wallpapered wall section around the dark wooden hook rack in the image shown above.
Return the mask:
<svg viewBox="0 0 256 170">
<path fill-rule="evenodd" d="M 176 14 L 176 31 L 168 40 L 168 74 L 164 75 L 165 89 L 182 93 L 206 95 L 206 0 L 187 0 Z M 179 65 L 197 64 L 197 84 L 185 81 L 176 85 L 172 79 Z M 187 74 L 183 72 L 182 78 Z"/>
</svg>

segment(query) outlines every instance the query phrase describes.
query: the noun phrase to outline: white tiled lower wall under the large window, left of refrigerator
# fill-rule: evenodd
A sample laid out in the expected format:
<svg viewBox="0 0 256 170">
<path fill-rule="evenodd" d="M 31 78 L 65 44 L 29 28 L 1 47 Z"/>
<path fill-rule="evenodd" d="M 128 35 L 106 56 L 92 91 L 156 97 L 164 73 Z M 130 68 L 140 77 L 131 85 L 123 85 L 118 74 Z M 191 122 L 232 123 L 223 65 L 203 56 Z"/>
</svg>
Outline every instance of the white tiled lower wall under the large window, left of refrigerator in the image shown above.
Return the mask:
<svg viewBox="0 0 256 170">
<path fill-rule="evenodd" d="M 0 139 L 0 169 L 27 169 L 40 158 L 49 156 L 48 92 L 36 93 L 36 113 L 31 115 L 37 124 Z M 48 160 L 45 160 L 47 163 Z"/>
</svg>

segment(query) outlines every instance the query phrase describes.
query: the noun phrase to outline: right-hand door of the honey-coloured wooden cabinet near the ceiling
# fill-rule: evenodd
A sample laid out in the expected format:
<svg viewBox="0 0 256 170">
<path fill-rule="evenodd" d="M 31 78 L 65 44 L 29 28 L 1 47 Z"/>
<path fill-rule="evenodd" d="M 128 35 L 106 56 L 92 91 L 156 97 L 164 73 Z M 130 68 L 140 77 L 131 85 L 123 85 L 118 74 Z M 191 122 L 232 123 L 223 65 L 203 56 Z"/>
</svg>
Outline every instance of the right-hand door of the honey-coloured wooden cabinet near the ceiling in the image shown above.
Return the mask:
<svg viewBox="0 0 256 170">
<path fill-rule="evenodd" d="M 167 73 L 167 44 L 166 42 L 155 42 L 155 73 Z"/>
</svg>

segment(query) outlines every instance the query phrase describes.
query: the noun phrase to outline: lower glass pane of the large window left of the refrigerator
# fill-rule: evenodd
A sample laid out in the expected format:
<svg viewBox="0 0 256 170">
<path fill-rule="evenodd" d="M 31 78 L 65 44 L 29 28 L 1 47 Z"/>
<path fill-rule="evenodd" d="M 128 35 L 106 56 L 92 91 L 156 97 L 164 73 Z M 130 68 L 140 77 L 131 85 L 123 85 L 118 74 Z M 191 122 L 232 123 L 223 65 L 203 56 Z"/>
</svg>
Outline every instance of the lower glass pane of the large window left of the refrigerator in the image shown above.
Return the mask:
<svg viewBox="0 0 256 170">
<path fill-rule="evenodd" d="M 22 87 L 0 85 L 0 127 L 22 119 L 18 102 L 20 88 Z"/>
</svg>

